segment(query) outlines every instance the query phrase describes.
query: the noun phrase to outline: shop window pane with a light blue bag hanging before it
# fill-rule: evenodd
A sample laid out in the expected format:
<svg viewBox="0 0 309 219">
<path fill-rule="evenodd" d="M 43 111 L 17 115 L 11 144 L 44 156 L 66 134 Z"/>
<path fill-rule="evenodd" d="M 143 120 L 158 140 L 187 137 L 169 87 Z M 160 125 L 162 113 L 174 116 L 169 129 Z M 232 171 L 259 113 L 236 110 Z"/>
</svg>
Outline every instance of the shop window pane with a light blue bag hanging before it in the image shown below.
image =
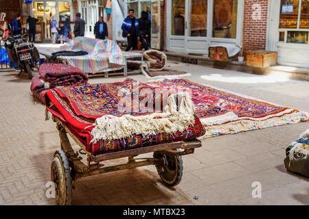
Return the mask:
<svg viewBox="0 0 309 219">
<path fill-rule="evenodd" d="M 282 11 L 282 7 L 293 5 L 293 12 Z M 281 0 L 279 28 L 297 28 L 299 0 Z"/>
</svg>

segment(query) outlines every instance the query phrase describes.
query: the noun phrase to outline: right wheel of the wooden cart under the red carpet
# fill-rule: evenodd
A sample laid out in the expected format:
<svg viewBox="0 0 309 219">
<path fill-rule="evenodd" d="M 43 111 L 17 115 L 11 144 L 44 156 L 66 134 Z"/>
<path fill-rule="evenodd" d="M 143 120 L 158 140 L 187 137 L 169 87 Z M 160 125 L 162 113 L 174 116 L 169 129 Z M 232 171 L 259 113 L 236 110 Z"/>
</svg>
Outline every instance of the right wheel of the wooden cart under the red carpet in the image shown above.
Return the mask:
<svg viewBox="0 0 309 219">
<path fill-rule="evenodd" d="M 179 151 L 179 149 L 175 149 L 175 151 Z M 163 164 L 156 165 L 156 168 L 165 185 L 175 186 L 180 183 L 183 176 L 183 159 L 181 156 L 164 155 L 155 152 L 153 157 L 163 159 Z"/>
</svg>

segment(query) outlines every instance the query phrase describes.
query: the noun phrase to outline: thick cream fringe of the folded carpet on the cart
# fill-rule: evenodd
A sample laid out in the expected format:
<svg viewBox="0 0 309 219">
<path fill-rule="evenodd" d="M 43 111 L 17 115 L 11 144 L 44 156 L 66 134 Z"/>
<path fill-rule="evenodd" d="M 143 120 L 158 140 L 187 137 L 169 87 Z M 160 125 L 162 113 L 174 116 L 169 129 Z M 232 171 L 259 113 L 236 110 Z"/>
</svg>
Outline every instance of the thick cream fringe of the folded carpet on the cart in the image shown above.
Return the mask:
<svg viewBox="0 0 309 219">
<path fill-rule="evenodd" d="M 181 97 L 177 109 L 176 98 Z M 91 131 L 95 143 L 98 140 L 115 140 L 141 134 L 143 136 L 157 133 L 172 134 L 176 131 L 185 131 L 194 124 L 194 103 L 187 92 L 178 92 L 168 97 L 168 105 L 162 113 L 153 113 L 145 116 L 112 116 L 104 115 L 95 120 L 95 127 Z"/>
</svg>

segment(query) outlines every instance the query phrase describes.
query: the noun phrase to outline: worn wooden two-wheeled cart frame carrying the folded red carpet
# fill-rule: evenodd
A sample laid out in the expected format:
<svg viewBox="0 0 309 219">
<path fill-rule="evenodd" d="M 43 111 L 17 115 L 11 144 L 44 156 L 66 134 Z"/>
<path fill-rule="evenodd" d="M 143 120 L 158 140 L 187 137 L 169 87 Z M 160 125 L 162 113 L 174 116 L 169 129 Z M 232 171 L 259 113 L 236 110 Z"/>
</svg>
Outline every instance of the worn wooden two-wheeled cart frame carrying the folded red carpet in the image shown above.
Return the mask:
<svg viewBox="0 0 309 219">
<path fill-rule="evenodd" d="M 51 168 L 51 177 L 55 183 L 56 203 L 58 205 L 71 205 L 72 188 L 75 188 L 74 182 L 82 177 L 137 168 L 139 166 L 155 165 L 165 185 L 177 185 L 183 175 L 181 156 L 192 154 L 194 148 L 202 146 L 200 140 L 194 139 L 188 142 L 172 142 L 128 151 L 91 155 L 86 152 L 84 144 L 58 118 L 53 116 L 53 120 L 56 123 L 61 144 L 61 149 L 56 150 L 54 153 Z M 73 151 L 67 133 L 81 147 L 78 152 Z M 137 155 L 152 152 L 153 157 L 134 158 Z M 81 162 L 82 157 L 80 157 L 80 154 L 87 154 L 87 165 Z M 120 157 L 128 157 L 128 162 L 106 167 L 102 164 L 108 159 Z"/>
</svg>

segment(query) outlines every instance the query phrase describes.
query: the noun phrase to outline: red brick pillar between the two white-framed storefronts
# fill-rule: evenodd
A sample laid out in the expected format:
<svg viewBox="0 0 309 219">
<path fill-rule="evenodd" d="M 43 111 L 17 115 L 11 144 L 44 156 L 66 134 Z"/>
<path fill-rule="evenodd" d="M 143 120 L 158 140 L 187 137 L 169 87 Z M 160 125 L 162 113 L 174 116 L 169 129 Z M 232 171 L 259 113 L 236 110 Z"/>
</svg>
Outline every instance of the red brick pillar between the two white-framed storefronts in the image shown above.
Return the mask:
<svg viewBox="0 0 309 219">
<path fill-rule="evenodd" d="M 253 7 L 255 4 L 258 7 Z M 265 49 L 267 12 L 268 0 L 244 0 L 244 53 L 248 50 Z"/>
</svg>

